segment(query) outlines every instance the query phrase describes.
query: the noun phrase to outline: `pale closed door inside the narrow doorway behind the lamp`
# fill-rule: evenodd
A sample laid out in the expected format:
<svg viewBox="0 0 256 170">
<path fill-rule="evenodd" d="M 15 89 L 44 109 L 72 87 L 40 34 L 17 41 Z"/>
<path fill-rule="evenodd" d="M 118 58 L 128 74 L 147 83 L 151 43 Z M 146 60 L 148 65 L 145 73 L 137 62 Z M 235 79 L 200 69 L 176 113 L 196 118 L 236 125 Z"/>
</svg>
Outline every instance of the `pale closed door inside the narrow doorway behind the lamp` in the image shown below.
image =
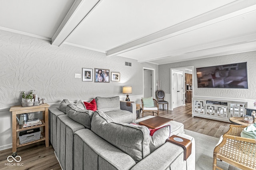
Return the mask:
<svg viewBox="0 0 256 170">
<path fill-rule="evenodd" d="M 152 70 L 144 70 L 144 97 L 152 97 Z"/>
</svg>

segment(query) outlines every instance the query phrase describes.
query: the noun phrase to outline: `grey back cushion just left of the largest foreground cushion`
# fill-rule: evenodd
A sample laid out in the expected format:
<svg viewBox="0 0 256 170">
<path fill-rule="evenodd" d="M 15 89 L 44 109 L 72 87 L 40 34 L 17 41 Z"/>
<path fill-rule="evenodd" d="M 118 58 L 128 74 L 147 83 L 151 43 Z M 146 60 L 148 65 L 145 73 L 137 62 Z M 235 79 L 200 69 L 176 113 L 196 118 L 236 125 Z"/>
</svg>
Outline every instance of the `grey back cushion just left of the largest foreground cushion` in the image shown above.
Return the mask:
<svg viewBox="0 0 256 170">
<path fill-rule="evenodd" d="M 66 109 L 68 117 L 74 121 L 84 125 L 86 128 L 91 128 L 91 121 L 94 111 L 81 109 L 76 104 L 69 104 Z"/>
</svg>

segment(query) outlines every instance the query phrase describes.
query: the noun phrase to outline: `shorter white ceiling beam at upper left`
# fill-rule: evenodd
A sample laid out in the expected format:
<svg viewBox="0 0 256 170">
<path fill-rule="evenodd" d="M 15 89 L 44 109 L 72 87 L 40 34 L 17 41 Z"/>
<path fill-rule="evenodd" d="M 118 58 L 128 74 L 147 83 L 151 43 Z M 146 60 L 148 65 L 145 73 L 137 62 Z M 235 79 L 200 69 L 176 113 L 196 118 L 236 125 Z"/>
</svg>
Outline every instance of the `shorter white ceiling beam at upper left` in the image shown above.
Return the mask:
<svg viewBox="0 0 256 170">
<path fill-rule="evenodd" d="M 90 14 L 100 0 L 75 0 L 52 37 L 52 45 L 60 46 L 77 26 Z"/>
</svg>

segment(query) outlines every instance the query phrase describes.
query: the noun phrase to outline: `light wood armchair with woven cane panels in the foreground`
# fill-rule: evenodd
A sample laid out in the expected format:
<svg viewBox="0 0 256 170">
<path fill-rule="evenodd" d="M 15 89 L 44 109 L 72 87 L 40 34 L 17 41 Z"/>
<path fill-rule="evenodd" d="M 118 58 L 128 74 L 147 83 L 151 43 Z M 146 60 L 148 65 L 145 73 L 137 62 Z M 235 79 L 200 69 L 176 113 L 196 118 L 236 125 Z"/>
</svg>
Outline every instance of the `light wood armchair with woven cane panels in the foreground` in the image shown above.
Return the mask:
<svg viewBox="0 0 256 170">
<path fill-rule="evenodd" d="M 221 169 L 216 165 L 217 158 L 242 170 L 256 169 L 256 139 L 240 136 L 245 127 L 230 125 L 222 141 L 214 148 L 213 170 Z"/>
</svg>

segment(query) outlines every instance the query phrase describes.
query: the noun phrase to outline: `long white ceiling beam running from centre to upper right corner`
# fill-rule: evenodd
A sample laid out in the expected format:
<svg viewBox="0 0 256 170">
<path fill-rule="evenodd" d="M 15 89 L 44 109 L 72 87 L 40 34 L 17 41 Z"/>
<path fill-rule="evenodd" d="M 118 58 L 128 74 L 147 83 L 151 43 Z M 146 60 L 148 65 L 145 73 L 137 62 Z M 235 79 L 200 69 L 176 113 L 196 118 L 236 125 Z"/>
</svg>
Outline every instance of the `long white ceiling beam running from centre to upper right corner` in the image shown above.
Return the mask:
<svg viewBox="0 0 256 170">
<path fill-rule="evenodd" d="M 170 26 L 164 30 L 160 30 L 156 33 L 150 34 L 143 38 L 109 49 L 106 51 L 106 55 L 107 56 L 118 55 L 126 51 L 130 51 L 132 49 L 136 49 L 151 43 L 165 40 L 167 38 L 174 36 L 174 34 L 177 34 L 177 33 L 182 34 L 182 32 L 188 32 L 190 29 L 194 29 L 192 27 L 199 26 L 199 25 L 200 27 L 202 27 L 204 23 L 212 24 L 209 21 L 226 16 L 228 14 L 232 14 L 234 12 L 238 12 L 239 10 L 248 8 L 253 5 L 256 5 L 256 0 L 236 0 L 230 4 L 226 4 L 212 11 L 206 12 L 194 18 L 190 18 L 189 20 L 178 23 L 174 26 Z M 239 14 L 236 14 L 236 15 L 240 15 L 240 14 L 241 12 L 239 12 Z M 234 17 L 234 15 L 230 15 L 229 17 L 232 18 Z M 224 18 L 226 19 L 226 17 Z"/>
</svg>

